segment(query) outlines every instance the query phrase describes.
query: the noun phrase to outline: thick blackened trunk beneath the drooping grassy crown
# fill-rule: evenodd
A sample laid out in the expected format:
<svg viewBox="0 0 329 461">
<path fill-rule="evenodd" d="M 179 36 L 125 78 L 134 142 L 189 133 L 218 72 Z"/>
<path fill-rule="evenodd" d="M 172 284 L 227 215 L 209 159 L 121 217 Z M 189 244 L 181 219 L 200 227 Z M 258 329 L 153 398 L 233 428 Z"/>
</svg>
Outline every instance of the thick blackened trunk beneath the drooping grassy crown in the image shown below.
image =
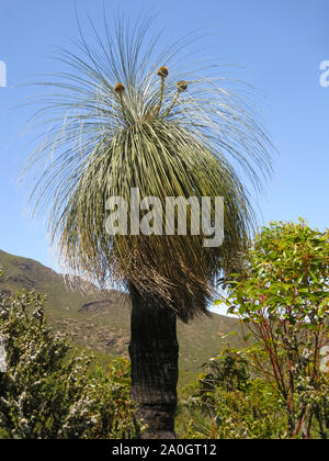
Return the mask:
<svg viewBox="0 0 329 461">
<path fill-rule="evenodd" d="M 132 398 L 148 428 L 143 438 L 174 439 L 178 356 L 177 317 L 156 308 L 136 289 L 132 295 Z"/>
</svg>

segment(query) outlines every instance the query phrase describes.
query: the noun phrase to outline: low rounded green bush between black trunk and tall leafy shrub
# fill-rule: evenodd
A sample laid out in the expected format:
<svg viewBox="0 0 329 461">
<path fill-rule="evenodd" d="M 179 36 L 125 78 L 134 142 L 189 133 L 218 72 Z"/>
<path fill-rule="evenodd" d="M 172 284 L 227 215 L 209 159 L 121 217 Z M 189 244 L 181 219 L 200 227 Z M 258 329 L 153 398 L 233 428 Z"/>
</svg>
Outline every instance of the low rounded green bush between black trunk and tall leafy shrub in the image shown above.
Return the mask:
<svg viewBox="0 0 329 461">
<path fill-rule="evenodd" d="M 252 379 L 247 359 L 234 352 L 206 364 L 183 392 L 180 408 L 180 436 L 189 439 L 281 439 L 288 431 L 277 393 Z"/>
</svg>

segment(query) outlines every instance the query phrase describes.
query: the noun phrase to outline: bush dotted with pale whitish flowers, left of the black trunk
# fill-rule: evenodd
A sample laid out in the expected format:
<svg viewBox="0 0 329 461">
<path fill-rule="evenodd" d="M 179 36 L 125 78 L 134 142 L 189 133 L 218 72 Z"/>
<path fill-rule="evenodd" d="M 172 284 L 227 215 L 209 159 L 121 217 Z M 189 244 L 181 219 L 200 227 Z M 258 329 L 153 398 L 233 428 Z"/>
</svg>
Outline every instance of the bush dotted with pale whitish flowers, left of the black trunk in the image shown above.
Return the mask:
<svg viewBox="0 0 329 461">
<path fill-rule="evenodd" d="M 90 371 L 44 322 L 44 299 L 22 292 L 0 299 L 7 371 L 0 372 L 0 438 L 135 438 L 139 426 L 129 400 L 129 366 Z"/>
</svg>

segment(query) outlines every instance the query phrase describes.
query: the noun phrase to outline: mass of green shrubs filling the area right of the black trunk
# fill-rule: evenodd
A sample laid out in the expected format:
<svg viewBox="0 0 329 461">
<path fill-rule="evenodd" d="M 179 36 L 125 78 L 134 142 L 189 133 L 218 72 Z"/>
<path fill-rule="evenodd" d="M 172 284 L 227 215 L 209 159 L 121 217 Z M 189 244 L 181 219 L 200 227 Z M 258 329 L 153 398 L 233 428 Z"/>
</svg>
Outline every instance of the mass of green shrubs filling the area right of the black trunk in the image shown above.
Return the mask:
<svg viewBox="0 0 329 461">
<path fill-rule="evenodd" d="M 329 437 L 328 243 L 328 231 L 303 220 L 257 236 L 218 300 L 238 316 L 246 347 L 223 351 L 182 393 L 181 437 Z"/>
</svg>

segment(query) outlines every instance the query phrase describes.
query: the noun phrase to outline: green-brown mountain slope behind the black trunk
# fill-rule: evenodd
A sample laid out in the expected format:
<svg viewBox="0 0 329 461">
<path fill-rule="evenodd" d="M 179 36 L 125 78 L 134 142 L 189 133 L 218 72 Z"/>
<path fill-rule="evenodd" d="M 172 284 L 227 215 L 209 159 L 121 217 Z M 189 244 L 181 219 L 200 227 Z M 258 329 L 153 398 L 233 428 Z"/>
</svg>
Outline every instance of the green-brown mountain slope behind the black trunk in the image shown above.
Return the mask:
<svg viewBox="0 0 329 461">
<path fill-rule="evenodd" d="M 52 326 L 66 331 L 84 348 L 109 356 L 127 356 L 131 301 L 126 293 L 93 290 L 88 293 L 67 285 L 63 276 L 33 259 L 0 250 L 4 278 L 0 292 L 36 290 L 47 294 L 45 312 Z M 234 318 L 213 314 L 189 325 L 179 323 L 181 383 L 194 379 L 201 366 L 223 345 L 219 335 L 237 329 Z"/>
</svg>

